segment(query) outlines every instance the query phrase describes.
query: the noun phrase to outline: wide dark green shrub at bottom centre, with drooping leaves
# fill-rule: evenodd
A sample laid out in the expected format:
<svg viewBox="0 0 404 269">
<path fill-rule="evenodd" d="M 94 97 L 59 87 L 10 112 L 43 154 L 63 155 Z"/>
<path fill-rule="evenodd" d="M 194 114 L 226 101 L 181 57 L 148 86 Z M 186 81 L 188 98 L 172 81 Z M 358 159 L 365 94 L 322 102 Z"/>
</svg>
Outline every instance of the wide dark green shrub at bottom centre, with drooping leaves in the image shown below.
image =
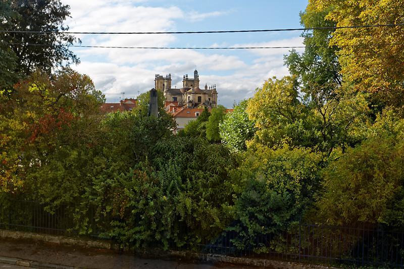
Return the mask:
<svg viewBox="0 0 404 269">
<path fill-rule="evenodd" d="M 150 148 L 149 163 L 96 177 L 89 197 L 112 216 L 108 235 L 136 247 L 200 243 L 222 232 L 232 216 L 235 160 L 222 145 L 171 137 Z"/>
</svg>

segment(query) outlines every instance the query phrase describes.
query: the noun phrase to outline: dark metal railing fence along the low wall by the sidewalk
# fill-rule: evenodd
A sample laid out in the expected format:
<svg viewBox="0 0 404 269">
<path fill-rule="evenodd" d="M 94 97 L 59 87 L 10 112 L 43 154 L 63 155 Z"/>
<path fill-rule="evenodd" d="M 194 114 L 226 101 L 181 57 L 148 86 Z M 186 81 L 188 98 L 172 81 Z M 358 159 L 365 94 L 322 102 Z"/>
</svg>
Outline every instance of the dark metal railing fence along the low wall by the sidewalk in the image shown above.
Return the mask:
<svg viewBox="0 0 404 269">
<path fill-rule="evenodd" d="M 51 235 L 83 234 L 108 239 L 103 232 L 108 231 L 111 220 L 108 216 L 98 216 L 94 208 L 50 208 L 38 202 L 19 200 L 3 203 L 7 204 L 0 207 L 0 229 Z M 77 223 L 84 224 L 85 229 L 76 227 Z M 239 241 L 239 232 L 224 231 L 215 240 L 203 238 L 196 244 L 182 247 L 173 242 L 170 247 L 231 256 L 404 267 L 404 231 L 381 226 L 349 228 L 296 224 L 279 234 L 255 236 L 252 243 L 249 241 L 243 247 L 237 244 Z"/>
</svg>

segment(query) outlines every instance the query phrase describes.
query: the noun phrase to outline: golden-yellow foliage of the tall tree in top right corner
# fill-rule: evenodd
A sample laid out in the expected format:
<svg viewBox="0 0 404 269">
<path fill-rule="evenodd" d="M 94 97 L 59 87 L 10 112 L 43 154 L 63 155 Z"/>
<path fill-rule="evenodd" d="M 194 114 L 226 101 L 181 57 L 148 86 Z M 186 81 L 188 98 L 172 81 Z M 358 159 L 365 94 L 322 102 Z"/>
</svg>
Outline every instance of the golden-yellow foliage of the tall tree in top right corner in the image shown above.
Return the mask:
<svg viewBox="0 0 404 269">
<path fill-rule="evenodd" d="M 400 0 L 311 0 L 309 10 L 326 12 L 337 26 L 404 23 Z M 404 105 L 404 27 L 337 29 L 330 46 L 338 46 L 341 73 L 354 91 L 371 94 L 378 110 Z"/>
</svg>

